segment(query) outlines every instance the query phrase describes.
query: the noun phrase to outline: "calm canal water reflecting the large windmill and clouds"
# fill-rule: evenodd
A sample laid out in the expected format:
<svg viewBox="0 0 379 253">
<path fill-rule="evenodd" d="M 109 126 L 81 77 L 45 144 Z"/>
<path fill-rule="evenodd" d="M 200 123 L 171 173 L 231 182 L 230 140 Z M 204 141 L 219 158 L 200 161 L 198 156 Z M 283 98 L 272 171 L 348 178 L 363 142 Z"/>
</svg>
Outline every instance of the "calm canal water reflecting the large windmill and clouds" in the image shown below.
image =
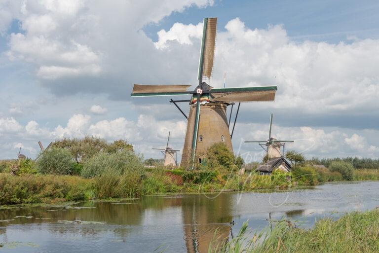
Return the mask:
<svg viewBox="0 0 379 253">
<path fill-rule="evenodd" d="M 145 196 L 124 202 L 0 210 L 0 252 L 207 252 L 215 229 L 231 237 L 249 220 L 262 229 L 271 219 L 337 218 L 379 206 L 379 181 L 329 183 L 266 193 Z M 8 221 L 3 221 L 8 220 Z M 234 220 L 234 224 L 231 224 Z"/>
</svg>

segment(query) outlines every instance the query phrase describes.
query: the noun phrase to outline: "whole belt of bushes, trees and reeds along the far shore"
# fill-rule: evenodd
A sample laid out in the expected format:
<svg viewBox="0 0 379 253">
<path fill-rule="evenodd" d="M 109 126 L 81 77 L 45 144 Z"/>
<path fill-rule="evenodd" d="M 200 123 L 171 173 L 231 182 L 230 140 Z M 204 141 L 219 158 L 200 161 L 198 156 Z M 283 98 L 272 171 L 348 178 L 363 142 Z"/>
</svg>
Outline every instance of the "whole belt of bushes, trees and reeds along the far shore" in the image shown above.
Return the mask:
<svg viewBox="0 0 379 253">
<path fill-rule="evenodd" d="M 379 180 L 378 160 L 305 160 L 294 151 L 288 152 L 287 158 L 295 165 L 290 173 L 274 171 L 271 175 L 259 175 L 255 172 L 259 163 L 244 164 L 243 159 L 235 157 L 225 145 L 216 144 L 208 149 L 207 162 L 200 168 L 168 169 L 161 166 L 160 161 L 144 161 L 126 141 L 108 143 L 95 137 L 63 139 L 54 142 L 37 161 L 29 158 L 0 161 L 0 204 L 125 198 L 168 192 L 250 191 L 327 181 Z"/>
</svg>

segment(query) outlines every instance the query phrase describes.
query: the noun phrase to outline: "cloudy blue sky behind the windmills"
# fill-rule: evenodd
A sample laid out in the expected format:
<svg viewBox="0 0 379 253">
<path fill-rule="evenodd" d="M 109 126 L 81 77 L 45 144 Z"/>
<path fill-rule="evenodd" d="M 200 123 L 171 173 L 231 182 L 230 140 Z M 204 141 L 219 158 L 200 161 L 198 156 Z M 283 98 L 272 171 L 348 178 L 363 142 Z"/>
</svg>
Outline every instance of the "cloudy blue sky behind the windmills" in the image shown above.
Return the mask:
<svg viewBox="0 0 379 253">
<path fill-rule="evenodd" d="M 243 141 L 266 140 L 273 113 L 273 136 L 295 140 L 287 150 L 377 158 L 378 12 L 375 0 L 0 0 L 0 159 L 86 135 L 161 158 L 152 147 L 171 131 L 182 149 L 187 122 L 170 98 L 130 93 L 196 86 L 204 17 L 218 17 L 211 86 L 226 73 L 227 87 L 278 87 L 274 102 L 241 104 L 235 153 L 261 159 Z"/>
</svg>

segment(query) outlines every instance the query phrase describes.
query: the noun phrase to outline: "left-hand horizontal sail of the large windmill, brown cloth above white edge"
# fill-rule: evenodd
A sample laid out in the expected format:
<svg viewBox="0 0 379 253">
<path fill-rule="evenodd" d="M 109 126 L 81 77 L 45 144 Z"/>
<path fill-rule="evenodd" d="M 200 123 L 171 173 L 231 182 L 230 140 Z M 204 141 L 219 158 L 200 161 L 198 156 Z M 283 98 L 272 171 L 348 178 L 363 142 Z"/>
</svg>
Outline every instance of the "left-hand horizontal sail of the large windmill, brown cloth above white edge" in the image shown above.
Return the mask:
<svg viewBox="0 0 379 253">
<path fill-rule="evenodd" d="M 132 97 L 147 97 L 147 96 L 170 96 L 170 95 L 188 95 L 187 89 L 189 84 L 174 84 L 174 85 L 143 85 L 134 84 Z"/>
</svg>

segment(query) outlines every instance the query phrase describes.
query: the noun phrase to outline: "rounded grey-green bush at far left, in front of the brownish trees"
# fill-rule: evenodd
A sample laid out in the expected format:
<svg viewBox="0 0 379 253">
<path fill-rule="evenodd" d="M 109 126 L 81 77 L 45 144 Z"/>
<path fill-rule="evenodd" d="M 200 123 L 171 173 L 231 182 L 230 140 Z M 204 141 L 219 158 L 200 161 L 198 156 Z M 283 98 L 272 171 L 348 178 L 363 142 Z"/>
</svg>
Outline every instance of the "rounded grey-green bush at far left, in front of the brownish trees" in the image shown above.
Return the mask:
<svg viewBox="0 0 379 253">
<path fill-rule="evenodd" d="M 42 174 L 69 175 L 73 170 L 73 157 L 65 148 L 50 148 L 38 160 L 38 171 Z"/>
</svg>

